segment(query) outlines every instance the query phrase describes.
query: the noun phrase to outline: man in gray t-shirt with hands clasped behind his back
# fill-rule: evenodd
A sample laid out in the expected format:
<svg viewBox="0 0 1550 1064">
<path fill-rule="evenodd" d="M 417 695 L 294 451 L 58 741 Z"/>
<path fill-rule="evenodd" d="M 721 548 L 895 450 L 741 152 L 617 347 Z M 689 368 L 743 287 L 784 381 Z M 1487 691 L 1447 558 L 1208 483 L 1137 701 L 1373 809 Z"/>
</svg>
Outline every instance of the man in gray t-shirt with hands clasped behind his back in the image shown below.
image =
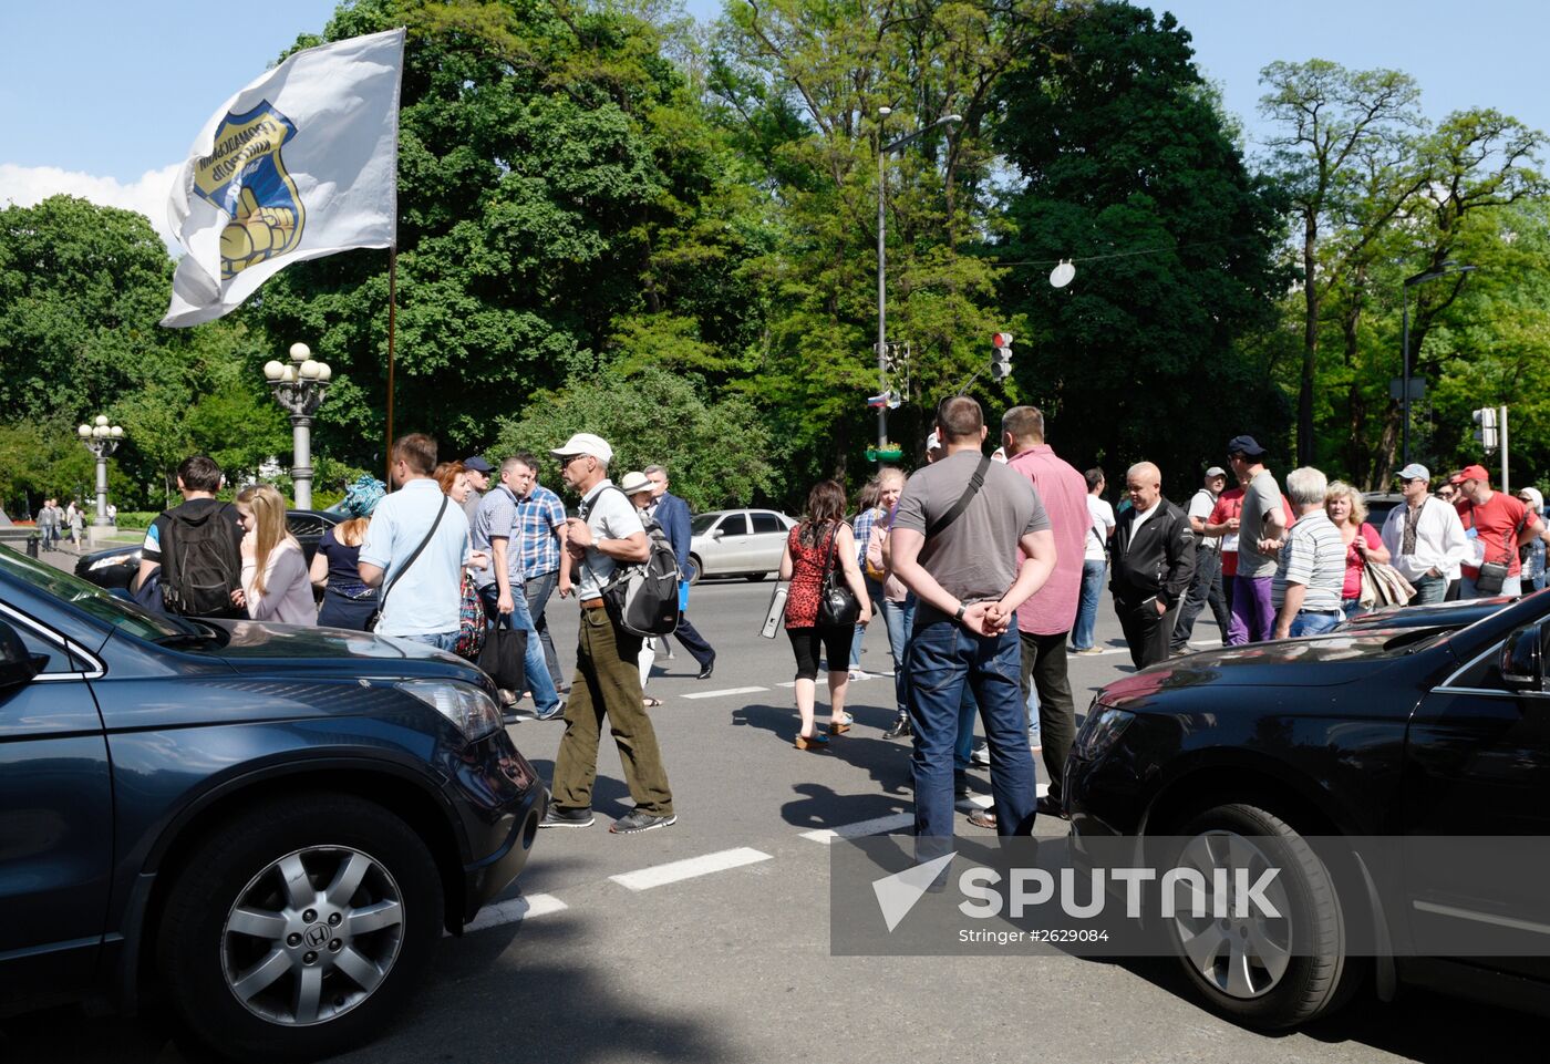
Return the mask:
<svg viewBox="0 0 1550 1064">
<path fill-rule="evenodd" d="M 966 396 L 946 400 L 936 431 L 947 454 L 905 484 L 890 534 L 893 574 L 919 600 L 905 668 L 921 859 L 946 852 L 953 834 L 953 744 L 964 684 L 990 744 L 997 833 L 1032 831 L 1034 760 L 1014 620 L 1056 563 L 1049 518 L 1032 484 L 981 451 L 980 403 Z"/>
</svg>

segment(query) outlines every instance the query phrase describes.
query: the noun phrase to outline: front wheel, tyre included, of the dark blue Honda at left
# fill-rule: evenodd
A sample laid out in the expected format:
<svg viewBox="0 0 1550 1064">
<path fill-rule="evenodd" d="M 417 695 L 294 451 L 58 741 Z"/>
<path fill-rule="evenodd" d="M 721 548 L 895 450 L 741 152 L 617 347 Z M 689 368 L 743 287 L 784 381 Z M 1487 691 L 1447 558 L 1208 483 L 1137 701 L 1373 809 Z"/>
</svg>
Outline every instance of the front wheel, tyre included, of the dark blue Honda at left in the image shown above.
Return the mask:
<svg viewBox="0 0 1550 1064">
<path fill-rule="evenodd" d="M 237 1059 L 310 1059 L 398 1014 L 442 918 L 436 862 L 409 825 L 307 794 L 222 825 L 189 856 L 157 949 L 195 1038 Z"/>
</svg>

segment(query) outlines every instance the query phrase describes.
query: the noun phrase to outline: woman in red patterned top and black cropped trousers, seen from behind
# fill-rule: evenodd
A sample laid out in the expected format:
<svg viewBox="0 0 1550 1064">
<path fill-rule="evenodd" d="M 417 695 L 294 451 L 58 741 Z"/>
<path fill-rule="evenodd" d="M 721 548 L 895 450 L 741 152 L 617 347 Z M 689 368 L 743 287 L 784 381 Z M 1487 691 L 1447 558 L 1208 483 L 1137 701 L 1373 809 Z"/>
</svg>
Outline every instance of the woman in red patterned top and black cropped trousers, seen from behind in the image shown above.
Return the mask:
<svg viewBox="0 0 1550 1064">
<path fill-rule="evenodd" d="M 786 537 L 780 558 L 780 579 L 790 580 L 786 636 L 797 656 L 801 731 L 795 746 L 800 751 L 822 751 L 829 741 L 814 724 L 820 651 L 829 665 L 829 734 L 842 735 L 851 729 L 845 721 L 851 639 L 857 624 L 871 620 L 866 583 L 856 557 L 856 537 L 845 523 L 845 489 L 834 481 L 822 481 L 808 493 L 808 516 Z M 834 577 L 829 577 L 831 572 Z M 843 589 L 852 596 L 851 602 L 843 602 Z M 840 606 L 839 616 L 835 605 Z"/>
</svg>

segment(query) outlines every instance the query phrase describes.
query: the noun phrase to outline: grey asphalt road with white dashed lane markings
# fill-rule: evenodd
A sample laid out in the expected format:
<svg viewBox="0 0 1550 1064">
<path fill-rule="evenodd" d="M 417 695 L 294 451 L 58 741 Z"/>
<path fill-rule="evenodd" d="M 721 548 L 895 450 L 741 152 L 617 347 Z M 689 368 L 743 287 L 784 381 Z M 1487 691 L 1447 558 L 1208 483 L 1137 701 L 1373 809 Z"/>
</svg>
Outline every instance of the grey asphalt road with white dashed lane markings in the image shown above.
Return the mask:
<svg viewBox="0 0 1550 1064">
<path fill-rule="evenodd" d="M 691 616 L 718 647 L 715 676 L 694 679 L 682 648 L 653 675 L 679 824 L 608 833 L 604 817 L 631 803 L 604 740 L 598 822 L 542 831 L 529 870 L 482 926 L 442 943 L 415 1007 L 339 1059 L 1442 1062 L 1479 1059 L 1485 1045 L 1497 1059 L 1542 1055 L 1539 1021 L 1418 991 L 1393 1005 L 1358 999 L 1302 1031 L 1265 1036 L 1198 1008 L 1164 960 L 831 955 L 829 845 L 808 836 L 904 822 L 907 744 L 882 738 L 893 686 L 877 678 L 851 684 L 857 726 L 829 752 L 792 748 L 797 717 L 781 686 L 792 676 L 789 644 L 756 636 L 770 586 L 698 586 Z M 550 611 L 570 659 L 575 606 L 556 599 Z M 1215 636 L 1209 628 L 1207 614 L 1201 645 Z M 1108 653 L 1073 659 L 1079 710 L 1130 668 L 1107 605 L 1099 636 Z M 880 628 L 866 650 L 865 667 L 890 667 Z M 560 726 L 522 723 L 512 734 L 547 776 Z M 975 776 L 987 794 L 986 776 Z M 1040 819 L 1038 831 L 1063 827 Z M 966 820 L 959 830 L 976 833 Z M 155 1014 L 67 1008 L 0 1022 L 0 1059 L 197 1058 Z"/>
</svg>

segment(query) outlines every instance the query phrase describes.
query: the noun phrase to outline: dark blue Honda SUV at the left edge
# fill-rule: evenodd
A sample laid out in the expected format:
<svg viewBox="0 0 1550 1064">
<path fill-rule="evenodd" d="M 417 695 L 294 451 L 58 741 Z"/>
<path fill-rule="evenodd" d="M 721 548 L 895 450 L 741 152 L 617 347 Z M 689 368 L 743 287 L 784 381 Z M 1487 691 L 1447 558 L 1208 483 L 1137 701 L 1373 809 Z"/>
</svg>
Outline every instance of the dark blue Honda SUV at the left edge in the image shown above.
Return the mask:
<svg viewBox="0 0 1550 1064">
<path fill-rule="evenodd" d="M 457 658 L 163 617 L 0 548 L 0 1008 L 155 986 L 231 1056 L 364 1042 L 544 803 Z"/>
</svg>

